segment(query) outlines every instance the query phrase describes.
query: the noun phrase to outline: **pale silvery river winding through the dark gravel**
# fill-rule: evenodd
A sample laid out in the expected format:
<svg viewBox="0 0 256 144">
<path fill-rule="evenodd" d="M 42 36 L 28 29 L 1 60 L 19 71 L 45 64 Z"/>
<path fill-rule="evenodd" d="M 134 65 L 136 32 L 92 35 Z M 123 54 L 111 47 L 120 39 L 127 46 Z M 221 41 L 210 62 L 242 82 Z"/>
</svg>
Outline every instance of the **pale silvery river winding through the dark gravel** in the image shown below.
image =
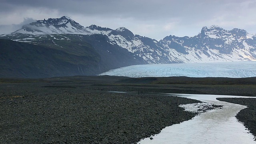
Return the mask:
<svg viewBox="0 0 256 144">
<path fill-rule="evenodd" d="M 202 113 L 192 120 L 168 126 L 160 134 L 152 136 L 152 140 L 145 138 L 138 144 L 256 144 L 254 136 L 235 118 L 236 114 L 246 106 L 216 100 L 216 98 L 249 97 L 200 94 L 170 95 L 192 98 L 224 107 Z M 182 107 L 186 107 L 187 110 L 192 108 L 191 104 Z"/>
</svg>

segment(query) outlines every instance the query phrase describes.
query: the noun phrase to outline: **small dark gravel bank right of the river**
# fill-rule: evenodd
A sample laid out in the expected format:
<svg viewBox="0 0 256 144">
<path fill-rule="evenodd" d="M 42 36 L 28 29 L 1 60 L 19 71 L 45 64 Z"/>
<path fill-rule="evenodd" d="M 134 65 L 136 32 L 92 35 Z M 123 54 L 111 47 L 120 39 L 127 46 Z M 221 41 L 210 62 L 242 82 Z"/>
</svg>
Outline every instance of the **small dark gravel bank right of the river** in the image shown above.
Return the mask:
<svg viewBox="0 0 256 144">
<path fill-rule="evenodd" d="M 217 98 L 217 100 L 248 106 L 240 110 L 236 118 L 248 128 L 256 140 L 256 98 Z"/>
</svg>

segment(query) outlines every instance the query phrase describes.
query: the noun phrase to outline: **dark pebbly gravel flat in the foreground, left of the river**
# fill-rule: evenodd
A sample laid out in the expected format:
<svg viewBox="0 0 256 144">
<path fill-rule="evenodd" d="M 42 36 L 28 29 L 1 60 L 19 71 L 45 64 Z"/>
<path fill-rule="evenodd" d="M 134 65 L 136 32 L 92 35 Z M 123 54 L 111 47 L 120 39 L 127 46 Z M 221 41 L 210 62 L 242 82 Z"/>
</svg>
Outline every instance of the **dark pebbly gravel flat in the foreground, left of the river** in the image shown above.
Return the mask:
<svg viewBox="0 0 256 144">
<path fill-rule="evenodd" d="M 86 89 L 1 84 L 0 143 L 136 143 L 166 126 L 193 118 L 194 113 L 178 105 L 199 102 Z"/>
</svg>

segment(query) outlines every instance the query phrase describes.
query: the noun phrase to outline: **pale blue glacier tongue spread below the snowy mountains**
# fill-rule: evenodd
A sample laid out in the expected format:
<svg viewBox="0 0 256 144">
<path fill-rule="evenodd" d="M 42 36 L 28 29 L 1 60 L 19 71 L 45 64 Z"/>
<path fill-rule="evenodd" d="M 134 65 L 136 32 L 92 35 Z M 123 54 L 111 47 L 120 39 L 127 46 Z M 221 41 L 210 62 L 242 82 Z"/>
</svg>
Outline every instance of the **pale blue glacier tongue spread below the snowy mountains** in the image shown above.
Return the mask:
<svg viewBox="0 0 256 144">
<path fill-rule="evenodd" d="M 99 75 L 131 78 L 169 76 L 246 78 L 256 76 L 256 61 L 133 65 L 109 70 Z"/>
</svg>

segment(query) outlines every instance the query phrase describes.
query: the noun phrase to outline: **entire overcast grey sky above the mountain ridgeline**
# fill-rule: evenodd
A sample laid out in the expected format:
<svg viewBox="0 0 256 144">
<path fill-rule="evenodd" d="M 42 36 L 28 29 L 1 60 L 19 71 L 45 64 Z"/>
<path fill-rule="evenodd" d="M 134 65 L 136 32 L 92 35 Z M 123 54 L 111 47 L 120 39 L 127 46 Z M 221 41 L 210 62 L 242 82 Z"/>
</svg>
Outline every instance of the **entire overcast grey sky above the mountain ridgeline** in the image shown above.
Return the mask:
<svg viewBox="0 0 256 144">
<path fill-rule="evenodd" d="M 62 16 L 84 27 L 126 27 L 156 40 L 195 36 L 211 25 L 256 34 L 255 14 L 256 0 L 0 0 L 0 34 Z"/>
</svg>

